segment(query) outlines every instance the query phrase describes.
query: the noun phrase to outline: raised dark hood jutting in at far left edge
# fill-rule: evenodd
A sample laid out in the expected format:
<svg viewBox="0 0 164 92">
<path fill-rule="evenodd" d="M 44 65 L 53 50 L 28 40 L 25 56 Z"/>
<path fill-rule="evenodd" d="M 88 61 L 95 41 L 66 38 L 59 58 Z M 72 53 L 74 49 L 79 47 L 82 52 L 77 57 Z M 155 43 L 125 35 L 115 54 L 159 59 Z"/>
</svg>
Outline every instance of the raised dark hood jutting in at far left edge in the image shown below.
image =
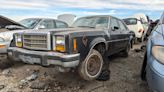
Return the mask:
<svg viewBox="0 0 164 92">
<path fill-rule="evenodd" d="M 17 26 L 24 27 L 20 23 L 17 23 L 9 18 L 0 15 L 0 27 L 5 28 L 7 25 L 17 25 Z"/>
</svg>

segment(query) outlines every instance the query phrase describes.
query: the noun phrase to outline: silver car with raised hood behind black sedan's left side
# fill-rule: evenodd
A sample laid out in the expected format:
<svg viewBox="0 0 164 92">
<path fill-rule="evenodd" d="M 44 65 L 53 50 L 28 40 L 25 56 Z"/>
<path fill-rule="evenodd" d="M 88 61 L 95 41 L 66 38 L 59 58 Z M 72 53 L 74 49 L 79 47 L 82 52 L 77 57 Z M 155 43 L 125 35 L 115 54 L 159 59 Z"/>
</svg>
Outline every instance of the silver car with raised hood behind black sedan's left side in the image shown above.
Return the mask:
<svg viewBox="0 0 164 92">
<path fill-rule="evenodd" d="M 1 28 L 3 28 L 0 29 L 1 54 L 7 54 L 7 48 L 9 47 L 13 39 L 14 33 L 29 31 L 30 29 L 36 31 L 37 29 L 54 29 L 68 27 L 65 22 L 46 18 L 28 18 L 20 21 L 20 23 L 17 23 L 5 17 L 0 17 L 0 25 Z"/>
</svg>

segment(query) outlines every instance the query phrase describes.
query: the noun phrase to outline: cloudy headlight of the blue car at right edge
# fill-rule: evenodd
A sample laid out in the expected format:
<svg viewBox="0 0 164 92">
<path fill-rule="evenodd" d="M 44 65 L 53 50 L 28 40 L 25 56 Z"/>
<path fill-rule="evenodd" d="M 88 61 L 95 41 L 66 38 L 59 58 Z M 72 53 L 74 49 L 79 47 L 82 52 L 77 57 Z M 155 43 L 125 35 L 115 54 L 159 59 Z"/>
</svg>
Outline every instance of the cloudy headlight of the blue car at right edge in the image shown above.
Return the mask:
<svg viewBox="0 0 164 92">
<path fill-rule="evenodd" d="M 164 47 L 163 46 L 153 46 L 152 54 L 160 63 L 164 64 Z"/>
</svg>

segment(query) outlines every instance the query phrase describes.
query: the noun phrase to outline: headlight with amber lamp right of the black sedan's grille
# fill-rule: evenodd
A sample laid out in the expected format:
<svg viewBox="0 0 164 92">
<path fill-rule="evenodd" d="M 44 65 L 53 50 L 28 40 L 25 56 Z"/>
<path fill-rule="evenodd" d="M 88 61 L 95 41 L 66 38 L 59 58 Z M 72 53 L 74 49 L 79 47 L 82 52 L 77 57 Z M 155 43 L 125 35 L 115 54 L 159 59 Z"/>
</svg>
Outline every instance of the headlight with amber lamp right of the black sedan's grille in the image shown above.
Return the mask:
<svg viewBox="0 0 164 92">
<path fill-rule="evenodd" d="M 55 36 L 55 44 L 53 50 L 64 52 L 65 51 L 65 37 L 64 36 Z"/>
</svg>

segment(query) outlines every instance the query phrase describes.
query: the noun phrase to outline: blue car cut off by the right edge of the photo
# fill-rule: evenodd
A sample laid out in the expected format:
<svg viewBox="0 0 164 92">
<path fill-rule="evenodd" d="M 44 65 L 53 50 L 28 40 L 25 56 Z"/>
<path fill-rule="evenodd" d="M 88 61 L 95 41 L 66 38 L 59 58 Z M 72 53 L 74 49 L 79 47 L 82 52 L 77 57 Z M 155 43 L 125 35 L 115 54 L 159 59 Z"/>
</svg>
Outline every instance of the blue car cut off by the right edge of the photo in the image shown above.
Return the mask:
<svg viewBox="0 0 164 92">
<path fill-rule="evenodd" d="M 147 43 L 141 78 L 153 92 L 164 92 L 164 13 Z"/>
</svg>

